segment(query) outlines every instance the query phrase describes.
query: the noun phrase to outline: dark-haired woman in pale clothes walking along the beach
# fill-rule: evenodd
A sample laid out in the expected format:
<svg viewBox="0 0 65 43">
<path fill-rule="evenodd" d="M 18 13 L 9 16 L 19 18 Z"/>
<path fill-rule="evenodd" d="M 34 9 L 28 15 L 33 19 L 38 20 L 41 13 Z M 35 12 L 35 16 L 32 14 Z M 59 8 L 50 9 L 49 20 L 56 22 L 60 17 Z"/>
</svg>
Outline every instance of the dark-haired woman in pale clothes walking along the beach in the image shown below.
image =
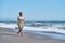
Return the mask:
<svg viewBox="0 0 65 43">
<path fill-rule="evenodd" d="M 22 34 L 22 30 L 23 30 L 24 24 L 25 24 L 25 18 L 24 18 L 24 16 L 23 16 L 23 13 L 20 12 L 20 16 L 17 17 L 17 26 L 18 26 L 18 29 L 20 29 L 20 30 L 18 30 L 17 34 L 18 34 L 18 33 Z"/>
</svg>

